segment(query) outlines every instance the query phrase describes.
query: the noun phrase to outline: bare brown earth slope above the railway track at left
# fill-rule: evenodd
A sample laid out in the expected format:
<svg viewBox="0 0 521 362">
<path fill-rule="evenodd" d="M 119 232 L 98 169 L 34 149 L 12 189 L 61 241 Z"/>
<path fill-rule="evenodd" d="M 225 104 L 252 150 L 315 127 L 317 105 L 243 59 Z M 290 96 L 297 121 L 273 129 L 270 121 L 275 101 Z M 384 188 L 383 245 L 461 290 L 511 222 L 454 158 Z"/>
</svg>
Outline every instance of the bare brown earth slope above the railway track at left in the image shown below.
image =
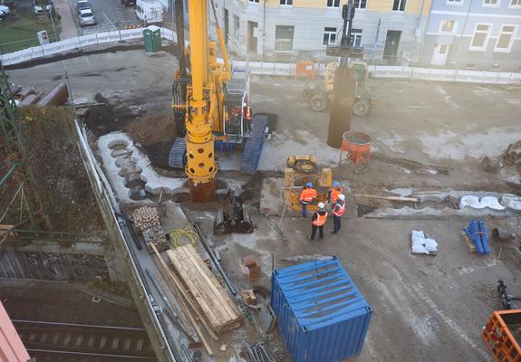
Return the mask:
<svg viewBox="0 0 521 362">
<path fill-rule="evenodd" d="M 20 110 L 26 162 L 34 176 L 33 194 L 53 231 L 102 228 L 101 214 L 83 167 L 71 108 Z"/>
</svg>

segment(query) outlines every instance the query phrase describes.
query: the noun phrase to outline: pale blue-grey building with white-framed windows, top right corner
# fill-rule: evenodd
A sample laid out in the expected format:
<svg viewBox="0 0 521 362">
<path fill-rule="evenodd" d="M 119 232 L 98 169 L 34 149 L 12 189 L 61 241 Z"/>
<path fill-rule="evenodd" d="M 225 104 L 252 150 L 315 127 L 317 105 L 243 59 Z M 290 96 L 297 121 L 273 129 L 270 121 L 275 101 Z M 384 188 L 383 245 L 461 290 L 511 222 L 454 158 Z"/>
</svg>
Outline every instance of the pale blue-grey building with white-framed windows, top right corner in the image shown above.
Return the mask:
<svg viewBox="0 0 521 362">
<path fill-rule="evenodd" d="M 521 70 L 521 0 L 433 0 L 421 64 Z"/>
</svg>

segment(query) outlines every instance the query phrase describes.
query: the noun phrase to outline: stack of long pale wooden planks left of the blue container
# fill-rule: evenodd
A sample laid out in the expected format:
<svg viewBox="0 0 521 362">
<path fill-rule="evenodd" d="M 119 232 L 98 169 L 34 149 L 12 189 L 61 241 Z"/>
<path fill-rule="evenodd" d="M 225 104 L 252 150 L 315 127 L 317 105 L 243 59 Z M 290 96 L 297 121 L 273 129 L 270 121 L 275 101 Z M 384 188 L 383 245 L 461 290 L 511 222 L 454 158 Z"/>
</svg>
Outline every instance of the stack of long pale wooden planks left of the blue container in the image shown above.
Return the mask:
<svg viewBox="0 0 521 362">
<path fill-rule="evenodd" d="M 202 312 L 210 329 L 220 334 L 239 328 L 244 319 L 243 314 L 195 248 L 190 244 L 182 245 L 167 251 L 167 255 L 178 279 L 191 297 L 192 307 Z"/>
</svg>

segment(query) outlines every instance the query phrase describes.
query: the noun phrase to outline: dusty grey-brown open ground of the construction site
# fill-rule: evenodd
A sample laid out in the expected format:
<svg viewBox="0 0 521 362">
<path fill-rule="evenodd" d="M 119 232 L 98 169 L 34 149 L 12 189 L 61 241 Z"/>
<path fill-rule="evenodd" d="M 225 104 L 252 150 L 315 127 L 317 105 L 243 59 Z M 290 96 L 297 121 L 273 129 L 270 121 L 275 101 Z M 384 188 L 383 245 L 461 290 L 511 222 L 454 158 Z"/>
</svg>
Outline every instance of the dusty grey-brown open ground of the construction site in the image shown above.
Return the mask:
<svg viewBox="0 0 521 362">
<path fill-rule="evenodd" d="M 182 176 L 167 169 L 165 160 L 173 143 L 169 129 L 171 82 L 176 69 L 173 56 L 167 52 L 109 52 L 63 62 L 74 100 L 92 106 L 87 125 L 94 137 L 130 130 L 130 137 L 143 146 L 156 171 Z M 42 89 L 64 81 L 62 62 L 8 74 L 15 83 Z M 254 177 L 240 175 L 236 171 L 239 153 L 217 157 L 218 177 L 228 186 L 244 186 L 248 207 L 257 210 L 254 222 L 258 220 L 258 226 L 252 234 L 213 237 L 223 265 L 240 289 L 255 287 L 266 293 L 272 260 L 275 268 L 280 268 L 290 264 L 281 261 L 285 257 L 336 254 L 374 310 L 362 355 L 354 360 L 491 360 L 480 332 L 490 313 L 501 308 L 498 279 L 506 280 L 513 294 L 521 294 L 517 292 L 521 281 L 516 249 L 504 244 L 497 258 L 500 244 L 492 241 L 489 255 L 470 253 L 461 236 L 468 224 L 465 217 L 359 217 L 362 214 L 358 214 L 352 194 L 381 193 L 382 188 L 515 191 L 519 176 L 514 170 L 490 174 L 481 169 L 479 159 L 498 157 L 509 143 L 521 139 L 521 90 L 425 81 L 371 80 L 371 85 L 377 94 L 375 109 L 369 117 L 353 118 L 352 129 L 371 135 L 372 151 L 449 167 L 449 174 L 420 173 L 380 160 L 371 160 L 369 171 L 362 175 L 354 175 L 348 165 L 336 167 L 339 151 L 325 142 L 328 113 L 314 113 L 300 101 L 304 81 L 255 76 L 252 108 L 273 115 L 273 133 L 265 144 L 260 171 Z M 324 239 L 314 242 L 307 239 L 309 218 L 288 217 L 282 230 L 289 243 L 283 246 L 278 233 L 258 216 L 262 196 L 274 198 L 280 190 L 263 189 L 263 185 L 270 177 L 282 178 L 286 157 L 306 154 L 315 155 L 321 167 L 333 167 L 333 179 L 350 186 L 348 217 L 341 233 L 329 233 L 331 225 L 326 224 Z M 280 203 L 284 203 L 282 198 Z M 184 207 L 188 218 L 202 222 L 205 232 L 211 234 L 218 203 L 185 203 Z M 499 225 L 517 234 L 521 233 L 519 220 L 519 216 L 486 218 L 489 228 Z M 412 230 L 423 230 L 436 239 L 436 256 L 410 253 Z M 263 276 L 254 285 L 240 270 L 240 260 L 246 254 L 256 255 L 262 264 Z"/>
</svg>

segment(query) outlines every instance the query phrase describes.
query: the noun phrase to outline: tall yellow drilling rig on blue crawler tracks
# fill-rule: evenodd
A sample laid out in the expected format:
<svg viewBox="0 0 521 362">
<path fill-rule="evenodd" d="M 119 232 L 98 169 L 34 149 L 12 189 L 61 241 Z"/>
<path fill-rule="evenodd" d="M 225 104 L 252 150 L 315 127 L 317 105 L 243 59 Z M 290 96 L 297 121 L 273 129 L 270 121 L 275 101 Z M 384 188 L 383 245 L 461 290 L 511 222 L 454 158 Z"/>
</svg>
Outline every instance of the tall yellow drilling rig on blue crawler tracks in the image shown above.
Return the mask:
<svg viewBox="0 0 521 362">
<path fill-rule="evenodd" d="M 215 200 L 216 141 L 231 149 L 245 143 L 241 171 L 252 175 L 258 167 L 268 120 L 266 116 L 252 117 L 247 67 L 231 68 L 213 0 L 209 4 L 223 62 L 217 62 L 217 43 L 208 38 L 207 0 L 189 0 L 190 62 L 187 67 L 184 60 L 179 61 L 173 85 L 178 138 L 169 153 L 169 166 L 185 169 L 191 200 L 199 203 Z M 177 19 L 182 19 L 182 13 Z M 178 58 L 184 55 L 184 51 L 178 52 Z"/>
</svg>

